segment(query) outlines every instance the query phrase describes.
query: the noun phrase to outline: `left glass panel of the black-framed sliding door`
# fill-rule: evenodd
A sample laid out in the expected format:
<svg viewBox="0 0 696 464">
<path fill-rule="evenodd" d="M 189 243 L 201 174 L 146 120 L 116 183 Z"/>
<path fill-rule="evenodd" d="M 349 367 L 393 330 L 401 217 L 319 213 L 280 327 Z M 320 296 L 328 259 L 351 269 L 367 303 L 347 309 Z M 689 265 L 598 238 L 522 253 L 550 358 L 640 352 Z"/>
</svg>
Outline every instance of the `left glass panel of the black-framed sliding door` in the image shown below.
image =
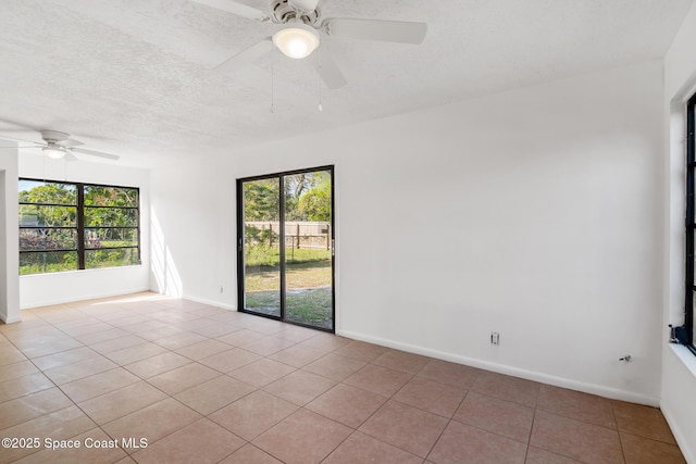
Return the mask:
<svg viewBox="0 0 696 464">
<path fill-rule="evenodd" d="M 244 309 L 281 317 L 278 178 L 243 184 Z"/>
</svg>

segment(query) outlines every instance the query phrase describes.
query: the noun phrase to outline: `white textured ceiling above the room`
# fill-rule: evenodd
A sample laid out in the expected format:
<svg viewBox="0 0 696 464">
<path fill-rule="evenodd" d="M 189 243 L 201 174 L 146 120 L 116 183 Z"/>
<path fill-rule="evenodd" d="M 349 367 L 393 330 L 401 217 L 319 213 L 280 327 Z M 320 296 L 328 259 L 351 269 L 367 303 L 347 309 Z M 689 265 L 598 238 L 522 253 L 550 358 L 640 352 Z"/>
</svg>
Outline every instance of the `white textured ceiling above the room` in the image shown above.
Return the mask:
<svg viewBox="0 0 696 464">
<path fill-rule="evenodd" d="M 270 0 L 239 1 L 269 11 Z M 233 155 L 661 58 L 692 1 L 323 0 L 324 17 L 428 24 L 421 46 L 323 38 L 348 79 L 327 90 L 307 61 L 277 51 L 212 73 L 274 26 L 188 0 L 1 0 L 0 134 L 35 140 L 20 126 L 62 130 L 144 167 Z"/>
</svg>

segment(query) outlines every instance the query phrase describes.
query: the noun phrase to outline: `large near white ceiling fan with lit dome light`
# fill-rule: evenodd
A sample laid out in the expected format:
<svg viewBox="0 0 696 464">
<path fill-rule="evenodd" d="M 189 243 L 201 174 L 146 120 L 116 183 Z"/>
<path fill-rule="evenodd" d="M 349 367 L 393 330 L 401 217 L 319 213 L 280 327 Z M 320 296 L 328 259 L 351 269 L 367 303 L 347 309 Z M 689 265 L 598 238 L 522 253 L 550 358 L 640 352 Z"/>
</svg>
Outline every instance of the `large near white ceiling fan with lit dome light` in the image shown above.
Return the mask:
<svg viewBox="0 0 696 464">
<path fill-rule="evenodd" d="M 229 72 L 256 61 L 271 51 L 271 45 L 285 55 L 303 59 L 312 54 L 321 45 L 321 36 L 353 39 L 381 40 L 387 42 L 419 45 L 425 38 L 427 24 L 400 21 L 358 20 L 326 17 L 322 20 L 318 7 L 320 0 L 272 0 L 271 15 L 235 0 L 192 0 L 219 10 L 259 22 L 278 25 L 271 37 L 247 48 L 215 67 Z M 346 85 L 346 78 L 322 48 L 321 57 L 314 59 L 314 67 L 330 89 Z"/>
</svg>

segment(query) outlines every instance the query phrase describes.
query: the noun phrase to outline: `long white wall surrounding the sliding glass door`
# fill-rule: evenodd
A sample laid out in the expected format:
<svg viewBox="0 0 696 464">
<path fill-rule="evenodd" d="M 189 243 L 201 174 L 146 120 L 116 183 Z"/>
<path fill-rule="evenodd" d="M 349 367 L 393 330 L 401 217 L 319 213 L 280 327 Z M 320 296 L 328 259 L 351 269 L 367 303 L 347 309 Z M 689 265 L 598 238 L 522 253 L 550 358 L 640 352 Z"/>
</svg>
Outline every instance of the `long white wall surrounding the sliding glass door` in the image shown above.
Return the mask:
<svg viewBox="0 0 696 464">
<path fill-rule="evenodd" d="M 152 208 L 181 294 L 235 306 L 235 178 L 335 164 L 339 334 L 657 404 L 661 103 L 660 62 L 609 70 L 158 170 Z"/>
</svg>

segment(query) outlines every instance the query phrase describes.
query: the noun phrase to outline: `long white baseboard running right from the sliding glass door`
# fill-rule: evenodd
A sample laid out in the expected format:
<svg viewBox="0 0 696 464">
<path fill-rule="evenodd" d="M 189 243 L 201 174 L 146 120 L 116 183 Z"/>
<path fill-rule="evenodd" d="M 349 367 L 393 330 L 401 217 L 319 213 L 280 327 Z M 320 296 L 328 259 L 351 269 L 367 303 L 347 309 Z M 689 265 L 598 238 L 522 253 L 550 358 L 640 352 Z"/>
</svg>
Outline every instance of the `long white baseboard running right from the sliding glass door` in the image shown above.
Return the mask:
<svg viewBox="0 0 696 464">
<path fill-rule="evenodd" d="M 552 385 L 555 387 L 568 388 L 571 390 L 582 391 L 585 393 L 597 394 L 599 397 L 610 398 L 613 400 L 627 401 L 631 403 L 645 404 L 649 406 L 658 407 L 660 405 L 659 398 L 654 398 L 647 394 L 636 393 L 634 391 L 621 390 L 612 387 L 605 387 L 601 385 L 586 384 L 569 378 L 556 377 L 552 375 L 538 373 L 534 371 L 521 369 L 519 367 L 512 367 L 505 364 L 492 363 L 489 361 L 476 360 L 473 358 L 467 358 L 459 354 L 447 353 L 444 351 L 432 350 L 430 348 L 418 347 L 409 343 L 401 343 L 398 341 L 387 340 L 378 337 L 364 336 L 362 334 L 356 334 L 348 330 L 336 331 L 341 337 L 352 338 L 360 341 L 366 341 L 370 343 L 380 344 L 383 347 L 394 348 L 396 350 L 407 351 L 409 353 L 421 354 L 424 356 L 436 358 L 443 361 L 450 361 L 457 364 L 463 364 L 471 367 L 477 367 L 485 371 L 492 371 L 499 374 L 511 375 L 513 377 L 520 377 L 527 380 L 539 381 L 542 384 Z"/>
</svg>

